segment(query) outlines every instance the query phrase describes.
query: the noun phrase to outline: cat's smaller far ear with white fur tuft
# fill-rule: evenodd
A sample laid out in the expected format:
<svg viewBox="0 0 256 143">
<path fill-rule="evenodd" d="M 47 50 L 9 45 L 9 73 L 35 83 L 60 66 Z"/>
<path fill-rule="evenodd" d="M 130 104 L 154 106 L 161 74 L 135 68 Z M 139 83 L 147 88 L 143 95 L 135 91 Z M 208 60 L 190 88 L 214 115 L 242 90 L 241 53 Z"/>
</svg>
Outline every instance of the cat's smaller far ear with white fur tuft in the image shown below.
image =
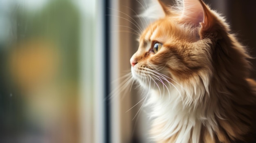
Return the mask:
<svg viewBox="0 0 256 143">
<path fill-rule="evenodd" d="M 168 6 L 166 6 L 161 0 L 151 0 L 145 9 L 146 11 L 144 11 L 140 16 L 153 20 L 164 18 L 166 15 L 171 15 Z"/>
</svg>

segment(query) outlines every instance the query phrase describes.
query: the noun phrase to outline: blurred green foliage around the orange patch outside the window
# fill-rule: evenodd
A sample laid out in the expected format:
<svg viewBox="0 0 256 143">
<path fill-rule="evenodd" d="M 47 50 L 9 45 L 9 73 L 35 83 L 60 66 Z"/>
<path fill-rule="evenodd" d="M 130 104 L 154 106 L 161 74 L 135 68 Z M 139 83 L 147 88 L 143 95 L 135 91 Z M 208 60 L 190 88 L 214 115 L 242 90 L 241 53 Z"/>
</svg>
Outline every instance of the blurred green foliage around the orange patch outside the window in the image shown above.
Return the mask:
<svg viewBox="0 0 256 143">
<path fill-rule="evenodd" d="M 24 7 L 12 7 L 13 37 L 11 45 L 20 41 L 42 39 L 56 45 L 61 56 L 56 81 L 58 84 L 78 84 L 80 20 L 77 7 L 70 0 L 49 0 L 39 11 L 27 11 Z M 7 42 L 8 43 L 8 42 Z M 3 48 L 10 44 L 0 44 L 0 142 L 7 142 L 24 132 L 36 133 L 36 125 L 31 125 L 25 117 L 24 98 L 10 80 L 8 52 L 16 47 Z M 76 90 L 76 89 L 74 89 Z M 77 96 L 77 95 L 69 95 Z M 76 97 L 73 97 L 76 99 Z M 29 130 L 29 131 L 27 131 Z M 37 132 L 37 133 L 38 133 Z M 16 142 L 16 141 L 14 141 Z"/>
</svg>

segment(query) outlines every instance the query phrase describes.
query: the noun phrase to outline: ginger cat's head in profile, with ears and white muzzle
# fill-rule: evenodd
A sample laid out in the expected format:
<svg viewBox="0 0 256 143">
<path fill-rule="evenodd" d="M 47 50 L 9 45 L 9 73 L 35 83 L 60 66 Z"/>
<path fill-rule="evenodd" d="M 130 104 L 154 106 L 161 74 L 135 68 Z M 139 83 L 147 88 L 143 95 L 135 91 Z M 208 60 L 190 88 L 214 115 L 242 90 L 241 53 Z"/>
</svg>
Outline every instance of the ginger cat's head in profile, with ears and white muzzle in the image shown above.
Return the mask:
<svg viewBox="0 0 256 143">
<path fill-rule="evenodd" d="M 232 53 L 234 61 L 247 56 L 239 44 L 235 45 L 238 50 L 225 48 L 234 46 L 229 28 L 202 0 L 183 0 L 170 8 L 157 2 L 159 7 L 150 11 L 162 15 L 141 34 L 139 48 L 130 59 L 132 75 L 142 86 L 159 89 L 186 83 L 207 90 L 218 66 L 229 66 L 222 65 L 222 61 L 228 64 L 223 56 Z"/>
</svg>

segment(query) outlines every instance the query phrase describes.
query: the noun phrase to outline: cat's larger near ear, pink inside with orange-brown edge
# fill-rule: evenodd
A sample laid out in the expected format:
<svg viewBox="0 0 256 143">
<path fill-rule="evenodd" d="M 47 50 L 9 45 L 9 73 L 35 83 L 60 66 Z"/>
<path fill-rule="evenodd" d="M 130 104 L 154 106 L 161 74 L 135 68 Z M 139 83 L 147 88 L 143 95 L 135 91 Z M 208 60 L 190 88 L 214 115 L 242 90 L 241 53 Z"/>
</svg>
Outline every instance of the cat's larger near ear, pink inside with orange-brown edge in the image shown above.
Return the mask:
<svg viewBox="0 0 256 143">
<path fill-rule="evenodd" d="M 202 0 L 183 0 L 181 20 L 195 26 L 202 25 L 203 29 L 213 26 L 216 16 Z"/>
</svg>

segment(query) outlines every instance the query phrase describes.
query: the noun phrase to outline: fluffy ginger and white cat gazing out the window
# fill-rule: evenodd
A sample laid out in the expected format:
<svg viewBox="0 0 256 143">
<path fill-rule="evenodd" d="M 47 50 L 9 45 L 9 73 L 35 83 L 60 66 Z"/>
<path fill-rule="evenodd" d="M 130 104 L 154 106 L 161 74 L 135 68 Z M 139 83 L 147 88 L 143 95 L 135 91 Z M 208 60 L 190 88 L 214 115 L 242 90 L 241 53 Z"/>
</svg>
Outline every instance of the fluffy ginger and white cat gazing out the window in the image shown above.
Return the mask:
<svg viewBox="0 0 256 143">
<path fill-rule="evenodd" d="M 150 90 L 152 139 L 256 142 L 256 82 L 249 79 L 246 47 L 202 0 L 155 2 L 159 7 L 145 13 L 159 14 L 157 20 L 130 59 L 132 78 Z"/>
</svg>

